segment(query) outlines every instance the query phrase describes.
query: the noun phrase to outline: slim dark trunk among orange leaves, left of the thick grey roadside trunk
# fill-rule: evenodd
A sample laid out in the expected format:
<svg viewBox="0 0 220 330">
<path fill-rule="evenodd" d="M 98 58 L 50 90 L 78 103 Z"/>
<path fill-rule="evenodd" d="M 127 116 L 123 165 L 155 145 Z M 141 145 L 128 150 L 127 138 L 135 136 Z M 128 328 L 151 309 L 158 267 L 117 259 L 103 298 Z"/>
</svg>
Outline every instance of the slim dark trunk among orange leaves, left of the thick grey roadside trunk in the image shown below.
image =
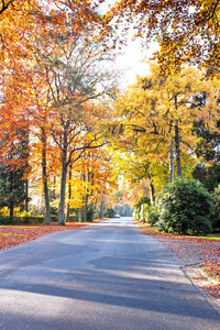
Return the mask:
<svg viewBox="0 0 220 330">
<path fill-rule="evenodd" d="M 48 198 L 48 180 L 47 180 L 47 172 L 46 172 L 46 133 L 42 128 L 42 174 L 43 174 L 43 186 L 44 186 L 44 202 L 45 202 L 45 217 L 44 223 L 51 223 L 51 208 L 50 208 L 50 198 Z"/>
</svg>

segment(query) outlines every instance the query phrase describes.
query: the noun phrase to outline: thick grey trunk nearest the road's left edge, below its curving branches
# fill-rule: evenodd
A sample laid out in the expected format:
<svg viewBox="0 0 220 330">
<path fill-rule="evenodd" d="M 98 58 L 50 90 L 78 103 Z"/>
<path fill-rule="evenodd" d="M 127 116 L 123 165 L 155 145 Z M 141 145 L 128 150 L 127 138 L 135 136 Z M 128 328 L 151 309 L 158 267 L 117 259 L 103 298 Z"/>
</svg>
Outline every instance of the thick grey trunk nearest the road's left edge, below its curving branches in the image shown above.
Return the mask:
<svg viewBox="0 0 220 330">
<path fill-rule="evenodd" d="M 66 195 L 66 176 L 67 176 L 67 133 L 64 133 L 64 147 L 62 152 L 62 182 L 59 197 L 58 224 L 65 226 L 65 195 Z"/>
</svg>

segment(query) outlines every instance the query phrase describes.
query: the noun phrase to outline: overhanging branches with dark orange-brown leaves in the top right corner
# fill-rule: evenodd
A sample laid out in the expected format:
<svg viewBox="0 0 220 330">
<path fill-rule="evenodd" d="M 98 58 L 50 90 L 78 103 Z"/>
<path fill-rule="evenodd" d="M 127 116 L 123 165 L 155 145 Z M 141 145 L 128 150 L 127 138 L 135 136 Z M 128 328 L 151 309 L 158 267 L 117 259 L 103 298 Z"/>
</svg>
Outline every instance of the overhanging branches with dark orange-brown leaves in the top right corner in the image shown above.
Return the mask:
<svg viewBox="0 0 220 330">
<path fill-rule="evenodd" d="M 100 1 L 102 2 L 102 1 Z M 133 22 L 144 44 L 156 41 L 162 72 L 172 73 L 185 63 L 204 66 L 209 76 L 219 74 L 219 0 L 118 1 L 106 22 L 123 22 L 124 33 Z M 123 20 L 122 20 L 123 18 Z M 112 30 L 109 28 L 110 33 Z"/>
</svg>

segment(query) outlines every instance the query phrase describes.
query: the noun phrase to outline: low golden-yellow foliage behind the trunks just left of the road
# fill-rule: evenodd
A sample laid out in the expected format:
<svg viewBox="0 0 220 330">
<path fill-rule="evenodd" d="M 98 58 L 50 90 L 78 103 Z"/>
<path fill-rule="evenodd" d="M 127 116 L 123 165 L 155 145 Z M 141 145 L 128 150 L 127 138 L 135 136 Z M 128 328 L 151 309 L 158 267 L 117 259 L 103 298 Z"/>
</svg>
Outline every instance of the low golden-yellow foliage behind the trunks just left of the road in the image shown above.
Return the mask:
<svg viewBox="0 0 220 330">
<path fill-rule="evenodd" d="M 99 207 L 100 212 L 103 212 L 103 196 L 108 195 L 112 186 L 110 158 L 106 146 L 89 148 L 69 166 L 66 221 L 70 208 L 78 209 L 80 221 L 91 219 L 90 216 Z"/>
</svg>

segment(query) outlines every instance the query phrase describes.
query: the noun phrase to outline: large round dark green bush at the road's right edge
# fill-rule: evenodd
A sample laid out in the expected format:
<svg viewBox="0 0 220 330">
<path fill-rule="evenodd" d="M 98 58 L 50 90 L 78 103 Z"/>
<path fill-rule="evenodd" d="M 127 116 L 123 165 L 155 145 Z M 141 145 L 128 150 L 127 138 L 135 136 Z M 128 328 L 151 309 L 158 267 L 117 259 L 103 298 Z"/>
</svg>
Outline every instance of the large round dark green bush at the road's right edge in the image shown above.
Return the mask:
<svg viewBox="0 0 220 330">
<path fill-rule="evenodd" d="M 178 179 L 157 198 L 158 229 L 179 234 L 208 234 L 215 198 L 196 180 Z"/>
</svg>

